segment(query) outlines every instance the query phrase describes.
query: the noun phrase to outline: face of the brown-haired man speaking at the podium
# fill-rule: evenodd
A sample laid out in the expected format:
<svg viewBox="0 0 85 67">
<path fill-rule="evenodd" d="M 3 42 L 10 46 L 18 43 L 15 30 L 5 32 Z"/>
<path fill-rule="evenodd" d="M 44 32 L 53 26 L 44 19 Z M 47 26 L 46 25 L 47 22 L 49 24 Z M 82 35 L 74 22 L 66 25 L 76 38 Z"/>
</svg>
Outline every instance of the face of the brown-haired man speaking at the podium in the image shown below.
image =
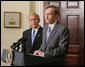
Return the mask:
<svg viewBox="0 0 85 67">
<path fill-rule="evenodd" d="M 53 8 L 48 8 L 45 10 L 45 21 L 48 24 L 54 23 L 54 21 L 57 19 L 57 14 L 54 13 Z"/>
</svg>

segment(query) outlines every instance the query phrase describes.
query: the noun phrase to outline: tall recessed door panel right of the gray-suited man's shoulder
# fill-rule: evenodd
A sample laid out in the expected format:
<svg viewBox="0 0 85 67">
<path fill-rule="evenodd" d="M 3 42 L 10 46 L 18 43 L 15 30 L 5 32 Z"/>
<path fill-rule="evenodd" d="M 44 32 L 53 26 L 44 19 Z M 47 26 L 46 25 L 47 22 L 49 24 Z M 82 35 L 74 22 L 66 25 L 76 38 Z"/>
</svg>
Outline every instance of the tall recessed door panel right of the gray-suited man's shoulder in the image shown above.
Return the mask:
<svg viewBox="0 0 85 67">
<path fill-rule="evenodd" d="M 79 15 L 67 15 L 68 28 L 70 30 L 70 43 L 78 44 L 79 41 Z"/>
</svg>

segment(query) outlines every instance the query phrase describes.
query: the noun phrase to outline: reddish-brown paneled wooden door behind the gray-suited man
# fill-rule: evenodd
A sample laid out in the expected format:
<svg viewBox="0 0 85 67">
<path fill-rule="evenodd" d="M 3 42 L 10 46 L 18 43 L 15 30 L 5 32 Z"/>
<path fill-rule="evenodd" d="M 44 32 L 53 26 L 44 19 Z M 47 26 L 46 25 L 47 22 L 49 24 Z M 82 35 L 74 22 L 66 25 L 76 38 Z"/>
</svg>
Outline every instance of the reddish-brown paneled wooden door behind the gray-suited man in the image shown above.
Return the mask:
<svg viewBox="0 0 85 67">
<path fill-rule="evenodd" d="M 59 21 L 70 30 L 70 44 L 66 56 L 67 66 L 84 65 L 84 1 L 44 1 L 46 5 L 60 7 Z"/>
</svg>

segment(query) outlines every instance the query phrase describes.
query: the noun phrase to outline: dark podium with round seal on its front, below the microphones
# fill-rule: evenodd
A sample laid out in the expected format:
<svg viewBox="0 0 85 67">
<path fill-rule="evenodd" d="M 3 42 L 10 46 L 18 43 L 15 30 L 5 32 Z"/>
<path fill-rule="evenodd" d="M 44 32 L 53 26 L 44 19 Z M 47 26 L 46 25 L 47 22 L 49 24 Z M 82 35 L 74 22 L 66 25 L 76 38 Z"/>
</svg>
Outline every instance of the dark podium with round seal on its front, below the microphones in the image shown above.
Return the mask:
<svg viewBox="0 0 85 67">
<path fill-rule="evenodd" d="M 7 49 L 3 50 L 2 61 L 11 64 L 11 66 L 57 66 L 61 63 L 61 61 L 56 58 L 46 58 L 16 51 L 12 51 L 12 57 L 11 54 L 8 54 L 10 52 L 8 51 L 7 53 L 7 51 Z M 10 55 L 12 59 L 7 58 L 8 55 Z"/>
</svg>

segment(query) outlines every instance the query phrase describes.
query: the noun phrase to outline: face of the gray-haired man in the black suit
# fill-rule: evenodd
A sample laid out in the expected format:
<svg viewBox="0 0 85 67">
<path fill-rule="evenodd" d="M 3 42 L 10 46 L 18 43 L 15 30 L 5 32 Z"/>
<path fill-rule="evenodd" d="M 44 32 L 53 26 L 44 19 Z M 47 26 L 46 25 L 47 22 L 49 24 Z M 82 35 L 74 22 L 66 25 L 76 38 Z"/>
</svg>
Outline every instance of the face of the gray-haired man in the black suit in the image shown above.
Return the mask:
<svg viewBox="0 0 85 67">
<path fill-rule="evenodd" d="M 29 16 L 30 25 L 33 29 L 37 28 L 39 25 L 39 18 L 37 15 Z"/>
</svg>

